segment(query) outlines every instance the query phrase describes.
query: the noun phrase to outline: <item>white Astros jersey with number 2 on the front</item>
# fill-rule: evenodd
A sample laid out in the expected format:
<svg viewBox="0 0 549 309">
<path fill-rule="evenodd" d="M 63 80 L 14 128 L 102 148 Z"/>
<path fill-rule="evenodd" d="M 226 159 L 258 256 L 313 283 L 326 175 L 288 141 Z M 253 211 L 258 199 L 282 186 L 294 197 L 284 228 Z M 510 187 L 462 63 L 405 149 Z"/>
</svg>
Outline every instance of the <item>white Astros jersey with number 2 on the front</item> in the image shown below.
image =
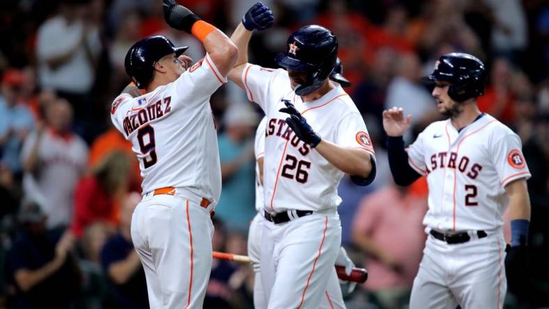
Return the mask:
<svg viewBox="0 0 549 309">
<path fill-rule="evenodd" d="M 504 187 L 530 173 L 520 138 L 484 114 L 460 132 L 450 120 L 433 122 L 408 148 L 408 163 L 427 175 L 424 225 L 436 230 L 496 230 L 508 198 Z"/>
</svg>

